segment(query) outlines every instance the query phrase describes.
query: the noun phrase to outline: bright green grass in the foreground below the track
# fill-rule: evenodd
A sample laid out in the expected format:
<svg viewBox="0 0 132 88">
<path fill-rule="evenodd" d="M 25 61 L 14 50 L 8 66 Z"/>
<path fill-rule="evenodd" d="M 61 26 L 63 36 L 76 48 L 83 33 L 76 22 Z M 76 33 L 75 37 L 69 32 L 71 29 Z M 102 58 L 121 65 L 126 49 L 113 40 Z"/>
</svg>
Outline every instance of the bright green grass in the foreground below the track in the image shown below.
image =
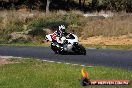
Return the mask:
<svg viewBox="0 0 132 88">
<path fill-rule="evenodd" d="M 16 60 L 16 59 L 14 59 Z M 12 60 L 12 61 L 14 61 Z M 81 66 L 50 63 L 35 59 L 0 66 L 0 88 L 84 88 Z M 132 71 L 110 67 L 85 67 L 89 77 L 95 79 L 132 79 Z M 132 88 L 132 85 L 125 86 Z M 124 88 L 124 86 L 87 86 L 86 88 Z"/>
</svg>

